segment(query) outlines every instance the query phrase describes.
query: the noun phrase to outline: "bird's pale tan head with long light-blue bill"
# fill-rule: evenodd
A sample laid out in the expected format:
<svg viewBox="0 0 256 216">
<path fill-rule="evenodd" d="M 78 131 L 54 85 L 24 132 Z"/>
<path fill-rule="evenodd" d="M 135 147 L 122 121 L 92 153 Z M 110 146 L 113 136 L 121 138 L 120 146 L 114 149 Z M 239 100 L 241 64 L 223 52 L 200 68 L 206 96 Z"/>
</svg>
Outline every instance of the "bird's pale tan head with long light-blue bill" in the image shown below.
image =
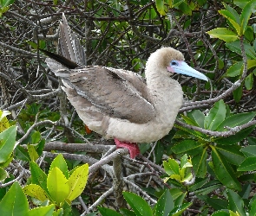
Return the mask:
<svg viewBox="0 0 256 216">
<path fill-rule="evenodd" d="M 150 55 L 147 67 L 158 68 L 157 71 L 170 73 L 181 73 L 198 79 L 208 81 L 207 76 L 189 67 L 184 61 L 184 55 L 174 48 L 160 48 Z"/>
</svg>

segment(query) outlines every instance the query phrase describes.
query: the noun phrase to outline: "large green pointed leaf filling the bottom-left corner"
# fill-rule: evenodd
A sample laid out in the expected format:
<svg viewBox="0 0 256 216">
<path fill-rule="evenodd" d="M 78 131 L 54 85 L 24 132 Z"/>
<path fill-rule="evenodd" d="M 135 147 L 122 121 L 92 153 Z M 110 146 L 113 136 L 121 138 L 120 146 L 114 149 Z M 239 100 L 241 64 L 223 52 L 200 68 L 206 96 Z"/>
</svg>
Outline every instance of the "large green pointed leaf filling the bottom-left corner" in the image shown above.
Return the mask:
<svg viewBox="0 0 256 216">
<path fill-rule="evenodd" d="M 1 215 L 20 216 L 28 215 L 29 203 L 22 187 L 15 181 L 0 202 Z"/>
</svg>

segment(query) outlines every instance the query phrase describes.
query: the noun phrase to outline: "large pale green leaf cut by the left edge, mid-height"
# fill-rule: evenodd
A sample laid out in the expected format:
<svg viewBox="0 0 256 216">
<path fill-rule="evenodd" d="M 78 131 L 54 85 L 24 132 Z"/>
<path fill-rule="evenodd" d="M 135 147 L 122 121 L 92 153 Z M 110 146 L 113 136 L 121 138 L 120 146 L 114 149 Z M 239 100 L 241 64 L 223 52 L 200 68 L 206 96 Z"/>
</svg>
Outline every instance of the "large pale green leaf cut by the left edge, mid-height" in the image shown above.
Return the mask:
<svg viewBox="0 0 256 216">
<path fill-rule="evenodd" d="M 16 143 L 16 125 L 0 133 L 0 163 L 6 162 Z"/>
</svg>

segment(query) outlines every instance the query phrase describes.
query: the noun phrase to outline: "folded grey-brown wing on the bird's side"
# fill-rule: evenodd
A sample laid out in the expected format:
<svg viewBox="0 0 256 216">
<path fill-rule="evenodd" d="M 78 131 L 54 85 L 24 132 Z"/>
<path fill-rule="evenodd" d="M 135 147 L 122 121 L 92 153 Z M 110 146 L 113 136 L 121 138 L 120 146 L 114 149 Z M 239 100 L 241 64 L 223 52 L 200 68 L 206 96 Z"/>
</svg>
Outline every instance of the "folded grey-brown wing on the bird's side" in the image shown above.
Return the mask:
<svg viewBox="0 0 256 216">
<path fill-rule="evenodd" d="M 110 68 L 111 69 L 111 68 Z M 69 86 L 104 115 L 138 124 L 154 118 L 154 106 L 132 82 L 106 67 L 77 67 L 69 71 Z M 62 71 L 62 73 L 67 73 Z M 146 86 L 141 81 L 141 86 Z M 147 92 L 147 91 L 144 91 Z M 75 107 L 82 109 L 82 107 Z"/>
</svg>

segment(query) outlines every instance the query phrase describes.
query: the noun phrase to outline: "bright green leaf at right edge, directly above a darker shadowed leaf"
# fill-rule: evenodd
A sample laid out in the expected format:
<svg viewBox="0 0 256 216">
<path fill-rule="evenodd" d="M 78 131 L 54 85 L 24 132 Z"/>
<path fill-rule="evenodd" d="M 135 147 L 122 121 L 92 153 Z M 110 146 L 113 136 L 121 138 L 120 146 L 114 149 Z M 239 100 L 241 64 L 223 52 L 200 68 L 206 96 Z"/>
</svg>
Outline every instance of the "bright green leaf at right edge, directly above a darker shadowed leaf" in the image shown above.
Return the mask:
<svg viewBox="0 0 256 216">
<path fill-rule="evenodd" d="M 242 124 L 246 124 L 250 121 L 253 120 L 253 118 L 255 117 L 256 112 L 252 111 L 252 112 L 243 112 L 243 113 L 238 113 L 238 114 L 234 114 L 228 118 L 226 118 L 217 128 L 217 131 L 225 131 L 228 129 L 225 129 L 224 127 L 230 127 L 230 128 L 234 128 L 236 126 L 240 126 Z"/>
</svg>

